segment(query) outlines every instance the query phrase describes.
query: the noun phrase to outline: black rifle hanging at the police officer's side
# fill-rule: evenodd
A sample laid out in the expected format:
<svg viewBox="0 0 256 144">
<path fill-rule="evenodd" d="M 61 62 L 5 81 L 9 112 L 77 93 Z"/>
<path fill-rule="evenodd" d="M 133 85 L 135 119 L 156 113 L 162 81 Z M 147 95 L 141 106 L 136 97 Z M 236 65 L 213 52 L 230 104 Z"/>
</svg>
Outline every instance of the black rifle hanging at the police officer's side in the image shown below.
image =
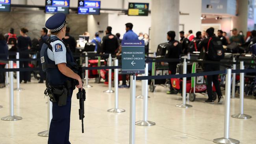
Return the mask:
<svg viewBox="0 0 256 144">
<path fill-rule="evenodd" d="M 81 77 L 81 79 L 85 78 L 85 70 L 82 68 L 82 66 L 79 66 L 78 68 L 78 75 Z M 78 81 L 76 82 L 78 85 Z M 86 99 L 85 97 L 85 89 L 78 89 L 78 93 L 76 94 L 76 98 L 79 100 L 79 120 L 82 120 L 82 133 L 83 131 L 83 118 L 84 118 L 84 101 Z"/>
</svg>

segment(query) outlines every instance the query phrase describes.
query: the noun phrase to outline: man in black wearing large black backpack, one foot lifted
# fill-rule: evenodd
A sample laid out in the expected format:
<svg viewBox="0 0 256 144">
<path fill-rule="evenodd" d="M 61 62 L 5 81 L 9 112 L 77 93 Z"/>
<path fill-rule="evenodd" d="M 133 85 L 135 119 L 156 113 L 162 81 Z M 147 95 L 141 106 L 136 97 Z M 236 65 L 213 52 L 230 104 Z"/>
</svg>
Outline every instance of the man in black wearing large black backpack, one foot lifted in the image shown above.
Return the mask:
<svg viewBox="0 0 256 144">
<path fill-rule="evenodd" d="M 208 28 L 206 30 L 206 35 L 207 35 L 207 39 L 202 40 L 199 44 L 198 47 L 201 49 L 201 53 L 203 54 L 205 53 L 205 56 L 203 57 L 203 59 L 205 61 L 218 61 L 218 60 L 214 60 L 214 59 L 210 59 L 210 54 L 209 54 L 209 50 L 208 48 L 215 48 L 214 46 L 209 46 L 210 45 L 210 41 L 215 41 L 215 39 L 217 39 L 218 41 L 221 42 L 221 40 L 218 37 L 214 36 L 214 28 Z M 222 46 L 222 44 L 221 44 Z M 219 64 L 213 64 L 213 63 L 205 63 L 204 64 L 204 72 L 210 72 L 210 71 L 218 71 L 220 70 Z M 219 79 L 218 79 L 218 75 L 209 75 L 207 76 L 206 79 L 207 83 L 206 83 L 206 87 L 207 87 L 207 94 L 208 94 L 208 99 L 205 101 L 206 103 L 214 103 L 213 100 L 213 95 L 212 95 L 212 83 L 215 86 L 217 95 L 218 95 L 218 104 L 222 104 L 223 103 L 223 96 L 221 93 L 221 87 L 220 87 L 220 83 L 219 83 Z"/>
</svg>

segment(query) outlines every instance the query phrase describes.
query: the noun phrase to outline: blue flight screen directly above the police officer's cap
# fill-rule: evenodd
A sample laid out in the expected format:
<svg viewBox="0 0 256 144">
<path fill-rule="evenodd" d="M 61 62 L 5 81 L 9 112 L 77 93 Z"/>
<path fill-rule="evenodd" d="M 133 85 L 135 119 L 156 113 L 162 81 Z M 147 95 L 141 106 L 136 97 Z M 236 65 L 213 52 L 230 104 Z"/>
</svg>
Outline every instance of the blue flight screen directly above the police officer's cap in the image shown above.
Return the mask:
<svg viewBox="0 0 256 144">
<path fill-rule="evenodd" d="M 45 13 L 69 13 L 69 0 L 45 0 Z"/>
</svg>

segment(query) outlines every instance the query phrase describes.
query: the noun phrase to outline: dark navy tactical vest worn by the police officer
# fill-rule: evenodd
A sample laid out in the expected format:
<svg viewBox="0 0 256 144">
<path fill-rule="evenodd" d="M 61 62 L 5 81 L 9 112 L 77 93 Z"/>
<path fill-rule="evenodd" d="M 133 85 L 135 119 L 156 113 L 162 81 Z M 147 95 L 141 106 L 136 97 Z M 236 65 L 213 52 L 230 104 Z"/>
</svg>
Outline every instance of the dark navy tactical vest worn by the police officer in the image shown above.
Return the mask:
<svg viewBox="0 0 256 144">
<path fill-rule="evenodd" d="M 55 62 L 50 60 L 47 55 L 48 48 L 52 51 L 52 46 L 50 43 L 58 40 L 63 42 L 61 39 L 59 39 L 56 36 L 50 37 L 46 41 L 43 41 L 44 44 L 40 52 L 42 69 L 44 72 L 46 72 L 46 81 L 52 86 L 65 85 L 66 81 L 71 81 L 71 78 L 63 75 L 59 71 L 58 66 L 55 65 Z M 68 44 L 65 44 L 64 42 L 63 44 L 67 49 L 67 52 L 66 52 L 67 66 L 74 71 L 76 70 L 77 66 L 76 66 L 76 63 L 74 62 L 72 52 L 70 51 Z"/>
</svg>

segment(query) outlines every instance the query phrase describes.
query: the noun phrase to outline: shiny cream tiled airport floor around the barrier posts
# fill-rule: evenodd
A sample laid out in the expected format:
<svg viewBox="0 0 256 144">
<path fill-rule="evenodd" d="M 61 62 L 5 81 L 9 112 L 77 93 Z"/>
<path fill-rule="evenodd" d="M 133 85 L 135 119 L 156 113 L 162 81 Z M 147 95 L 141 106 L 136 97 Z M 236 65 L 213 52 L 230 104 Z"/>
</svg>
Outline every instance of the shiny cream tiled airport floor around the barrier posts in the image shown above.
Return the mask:
<svg viewBox="0 0 256 144">
<path fill-rule="evenodd" d="M 114 94 L 103 93 L 107 85 L 89 83 L 92 88 L 86 89 L 85 133 L 81 130 L 78 117 L 79 103 L 72 98 L 70 142 L 72 144 L 129 144 L 129 107 L 130 90 L 119 89 L 119 107 L 124 113 L 108 113 L 113 108 Z M 16 83 L 15 83 L 16 85 Z M 137 94 L 141 94 L 141 83 L 137 81 Z M 15 86 L 14 86 L 15 87 Z M 47 98 L 44 98 L 44 84 L 33 80 L 21 84 L 24 91 L 14 92 L 15 109 L 19 121 L 0 120 L 0 144 L 46 144 L 47 137 L 37 136 L 38 132 L 47 129 Z M 192 108 L 175 107 L 182 97 L 165 94 L 165 88 L 156 87 L 156 92 L 149 92 L 148 120 L 156 126 L 135 127 L 136 144 L 213 144 L 214 138 L 224 134 L 224 105 L 206 104 L 206 97 L 198 94 L 195 102 L 189 102 Z M 245 113 L 251 119 L 230 118 L 230 137 L 240 140 L 241 144 L 256 144 L 256 100 L 245 98 Z M 9 115 L 9 88 L 0 89 L 0 117 Z M 239 112 L 239 99 L 231 100 L 230 114 Z M 142 119 L 143 100 L 136 100 L 136 121 Z"/>
</svg>

